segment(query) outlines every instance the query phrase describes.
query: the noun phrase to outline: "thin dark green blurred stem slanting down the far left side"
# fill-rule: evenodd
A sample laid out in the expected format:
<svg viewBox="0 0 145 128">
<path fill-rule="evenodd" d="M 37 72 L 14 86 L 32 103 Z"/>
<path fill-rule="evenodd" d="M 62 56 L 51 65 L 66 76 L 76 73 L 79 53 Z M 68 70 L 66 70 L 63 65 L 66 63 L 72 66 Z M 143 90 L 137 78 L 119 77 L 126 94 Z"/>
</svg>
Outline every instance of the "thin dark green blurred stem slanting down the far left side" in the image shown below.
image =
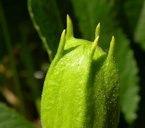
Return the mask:
<svg viewBox="0 0 145 128">
<path fill-rule="evenodd" d="M 20 80 L 19 80 L 19 76 L 18 76 L 18 72 L 17 72 L 17 68 L 16 68 L 16 61 L 15 61 L 15 57 L 13 55 L 13 48 L 12 48 L 12 40 L 11 40 L 11 36 L 10 36 L 10 32 L 8 29 L 8 25 L 7 25 L 7 21 L 4 15 L 4 10 L 2 7 L 2 2 L 0 1 L 0 25 L 2 28 L 2 32 L 3 32 L 3 36 L 4 36 L 4 40 L 6 43 L 6 48 L 11 60 L 11 66 L 12 66 L 12 71 L 13 71 L 13 77 L 14 77 L 14 89 L 15 89 L 15 93 L 17 95 L 17 97 L 19 98 L 19 103 L 20 103 L 20 111 L 25 114 L 25 106 L 24 106 L 24 99 L 23 99 L 23 95 L 21 93 L 21 84 L 20 84 Z"/>
</svg>

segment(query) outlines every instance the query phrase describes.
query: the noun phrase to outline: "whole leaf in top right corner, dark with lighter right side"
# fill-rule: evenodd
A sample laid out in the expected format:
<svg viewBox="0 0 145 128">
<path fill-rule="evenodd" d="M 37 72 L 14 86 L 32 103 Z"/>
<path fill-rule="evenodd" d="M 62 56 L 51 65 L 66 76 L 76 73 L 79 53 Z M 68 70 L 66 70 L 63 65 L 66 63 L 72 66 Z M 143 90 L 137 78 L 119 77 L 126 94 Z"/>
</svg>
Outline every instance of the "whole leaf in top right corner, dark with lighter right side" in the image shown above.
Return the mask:
<svg viewBox="0 0 145 128">
<path fill-rule="evenodd" d="M 122 2 L 122 1 L 121 1 Z M 120 5 L 119 5 L 120 6 Z M 145 1 L 125 0 L 123 3 L 128 30 L 134 36 L 135 42 L 145 50 Z"/>
</svg>

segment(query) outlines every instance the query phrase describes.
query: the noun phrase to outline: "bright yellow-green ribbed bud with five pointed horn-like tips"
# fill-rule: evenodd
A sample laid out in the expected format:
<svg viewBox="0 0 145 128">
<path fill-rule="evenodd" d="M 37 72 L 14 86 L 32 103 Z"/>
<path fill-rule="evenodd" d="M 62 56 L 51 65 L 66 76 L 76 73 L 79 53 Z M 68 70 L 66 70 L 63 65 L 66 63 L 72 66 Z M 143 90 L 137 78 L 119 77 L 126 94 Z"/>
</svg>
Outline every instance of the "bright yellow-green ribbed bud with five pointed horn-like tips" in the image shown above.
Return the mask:
<svg viewBox="0 0 145 128">
<path fill-rule="evenodd" d="M 73 36 L 67 16 L 57 54 L 50 65 L 42 93 L 43 128 L 117 128 L 118 71 L 114 37 L 108 54 L 98 46 L 100 24 L 93 42 Z"/>
</svg>

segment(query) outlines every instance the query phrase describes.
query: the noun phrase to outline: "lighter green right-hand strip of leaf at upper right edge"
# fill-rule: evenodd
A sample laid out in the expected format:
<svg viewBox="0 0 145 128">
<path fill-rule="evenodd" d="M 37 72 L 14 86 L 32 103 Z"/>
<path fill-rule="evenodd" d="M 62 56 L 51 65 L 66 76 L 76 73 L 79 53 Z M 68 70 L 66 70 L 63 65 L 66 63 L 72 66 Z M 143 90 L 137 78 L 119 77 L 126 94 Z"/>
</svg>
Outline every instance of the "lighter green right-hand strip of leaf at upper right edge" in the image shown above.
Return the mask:
<svg viewBox="0 0 145 128">
<path fill-rule="evenodd" d="M 135 30 L 135 41 L 145 50 L 145 1 Z"/>
</svg>

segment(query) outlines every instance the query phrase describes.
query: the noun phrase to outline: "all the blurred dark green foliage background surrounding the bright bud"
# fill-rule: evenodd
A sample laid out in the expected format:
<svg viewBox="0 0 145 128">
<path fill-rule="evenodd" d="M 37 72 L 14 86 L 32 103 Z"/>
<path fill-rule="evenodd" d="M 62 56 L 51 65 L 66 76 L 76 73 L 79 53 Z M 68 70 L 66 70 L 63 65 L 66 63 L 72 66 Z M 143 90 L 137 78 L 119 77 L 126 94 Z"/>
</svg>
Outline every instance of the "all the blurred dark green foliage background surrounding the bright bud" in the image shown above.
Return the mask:
<svg viewBox="0 0 145 128">
<path fill-rule="evenodd" d="M 43 81 L 66 27 L 66 14 L 75 36 L 87 40 L 94 39 L 100 22 L 100 45 L 106 51 L 115 35 L 119 127 L 145 127 L 144 0 L 0 0 L 0 127 L 8 127 L 8 122 L 12 127 L 40 127 Z"/>
</svg>

